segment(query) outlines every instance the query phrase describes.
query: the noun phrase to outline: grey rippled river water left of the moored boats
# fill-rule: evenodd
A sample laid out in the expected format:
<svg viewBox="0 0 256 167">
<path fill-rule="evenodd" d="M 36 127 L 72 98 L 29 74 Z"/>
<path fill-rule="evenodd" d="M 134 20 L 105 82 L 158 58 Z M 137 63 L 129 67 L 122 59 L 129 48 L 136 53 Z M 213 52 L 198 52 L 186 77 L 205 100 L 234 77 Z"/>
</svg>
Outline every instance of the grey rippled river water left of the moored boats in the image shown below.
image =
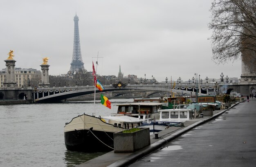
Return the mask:
<svg viewBox="0 0 256 167">
<path fill-rule="evenodd" d="M 110 101 L 111 110 L 97 101 L 96 115 L 116 113 L 116 104 L 133 100 Z M 65 147 L 65 123 L 79 114 L 93 111 L 92 101 L 0 105 L 0 166 L 72 167 L 104 154 L 71 152 Z"/>
</svg>

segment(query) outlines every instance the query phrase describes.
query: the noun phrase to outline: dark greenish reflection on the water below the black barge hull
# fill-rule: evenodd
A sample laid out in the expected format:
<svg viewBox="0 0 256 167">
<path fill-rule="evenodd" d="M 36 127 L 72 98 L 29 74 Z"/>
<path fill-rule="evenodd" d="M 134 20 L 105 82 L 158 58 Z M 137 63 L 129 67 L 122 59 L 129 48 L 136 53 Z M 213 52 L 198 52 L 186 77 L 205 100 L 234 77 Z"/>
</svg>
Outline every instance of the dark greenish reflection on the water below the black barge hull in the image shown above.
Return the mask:
<svg viewBox="0 0 256 167">
<path fill-rule="evenodd" d="M 106 154 L 106 152 L 84 153 L 84 152 L 71 152 L 67 150 L 65 152 L 64 160 L 67 167 L 74 167 L 76 165 L 84 163 L 90 159 L 96 158 L 103 154 Z"/>
</svg>

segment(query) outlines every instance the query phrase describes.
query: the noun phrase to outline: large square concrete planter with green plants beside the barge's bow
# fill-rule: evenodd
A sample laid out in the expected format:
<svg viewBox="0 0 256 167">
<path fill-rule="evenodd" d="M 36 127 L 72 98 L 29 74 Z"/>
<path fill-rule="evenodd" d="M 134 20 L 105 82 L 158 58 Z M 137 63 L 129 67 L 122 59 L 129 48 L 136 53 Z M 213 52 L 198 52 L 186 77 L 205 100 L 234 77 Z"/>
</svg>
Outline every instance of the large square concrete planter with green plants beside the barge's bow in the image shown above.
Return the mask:
<svg viewBox="0 0 256 167">
<path fill-rule="evenodd" d="M 135 152 L 150 145 L 149 128 L 139 128 L 132 133 L 114 133 L 114 152 Z"/>
</svg>

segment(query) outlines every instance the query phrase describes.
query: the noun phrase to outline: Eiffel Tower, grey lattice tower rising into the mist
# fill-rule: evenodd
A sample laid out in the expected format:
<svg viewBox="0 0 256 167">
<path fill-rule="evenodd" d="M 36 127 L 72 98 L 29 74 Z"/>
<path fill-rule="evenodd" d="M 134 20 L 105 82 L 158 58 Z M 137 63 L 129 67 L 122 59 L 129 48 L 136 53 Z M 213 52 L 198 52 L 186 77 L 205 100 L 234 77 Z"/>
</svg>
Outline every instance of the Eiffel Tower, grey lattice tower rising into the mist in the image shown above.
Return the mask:
<svg viewBox="0 0 256 167">
<path fill-rule="evenodd" d="M 78 21 L 79 21 L 79 18 L 77 15 L 75 15 L 74 46 L 73 46 L 72 62 L 70 66 L 70 73 L 74 73 L 74 71 L 78 72 L 79 70 L 83 70 L 83 71 L 85 70 L 83 66 L 82 55 L 81 55 Z"/>
</svg>

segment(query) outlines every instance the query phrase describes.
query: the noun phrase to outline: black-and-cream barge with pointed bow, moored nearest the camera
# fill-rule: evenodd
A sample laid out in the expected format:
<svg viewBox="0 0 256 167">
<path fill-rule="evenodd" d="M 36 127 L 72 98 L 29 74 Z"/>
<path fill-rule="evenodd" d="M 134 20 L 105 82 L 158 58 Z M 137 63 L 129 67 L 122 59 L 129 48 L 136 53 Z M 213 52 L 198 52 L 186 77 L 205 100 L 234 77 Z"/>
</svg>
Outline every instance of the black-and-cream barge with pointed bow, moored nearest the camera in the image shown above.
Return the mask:
<svg viewBox="0 0 256 167">
<path fill-rule="evenodd" d="M 119 104 L 110 116 L 76 116 L 64 126 L 65 146 L 71 151 L 105 152 L 113 149 L 113 134 L 159 118 L 162 103 Z"/>
</svg>

